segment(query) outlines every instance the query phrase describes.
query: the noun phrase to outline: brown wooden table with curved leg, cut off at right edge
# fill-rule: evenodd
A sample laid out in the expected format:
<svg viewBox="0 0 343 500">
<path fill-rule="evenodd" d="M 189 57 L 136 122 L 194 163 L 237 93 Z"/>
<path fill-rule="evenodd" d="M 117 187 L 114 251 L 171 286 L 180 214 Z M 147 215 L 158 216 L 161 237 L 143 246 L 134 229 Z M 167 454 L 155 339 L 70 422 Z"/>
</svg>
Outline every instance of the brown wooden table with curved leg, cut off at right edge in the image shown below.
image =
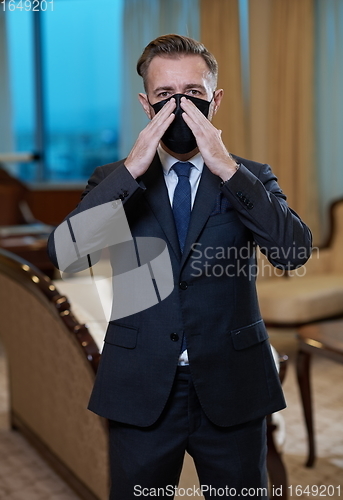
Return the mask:
<svg viewBox="0 0 343 500">
<path fill-rule="evenodd" d="M 343 319 L 323 321 L 298 329 L 297 378 L 308 434 L 307 467 L 315 461 L 313 410 L 310 383 L 312 354 L 343 363 Z"/>
</svg>

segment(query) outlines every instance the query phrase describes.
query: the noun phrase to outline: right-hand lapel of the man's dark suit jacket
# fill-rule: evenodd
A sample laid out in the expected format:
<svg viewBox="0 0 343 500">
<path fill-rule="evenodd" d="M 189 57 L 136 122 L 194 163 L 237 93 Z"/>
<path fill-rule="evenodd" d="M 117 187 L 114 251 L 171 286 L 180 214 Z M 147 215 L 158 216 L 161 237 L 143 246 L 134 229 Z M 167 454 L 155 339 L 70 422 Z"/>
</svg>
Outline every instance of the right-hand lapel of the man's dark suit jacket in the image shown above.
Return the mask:
<svg viewBox="0 0 343 500">
<path fill-rule="evenodd" d="M 220 183 L 220 178 L 212 174 L 206 165 L 204 165 L 200 184 L 194 200 L 185 248 L 181 259 L 181 267 L 191 251 L 192 244 L 197 241 L 202 228 L 213 210 L 216 196 L 220 190 Z"/>
</svg>

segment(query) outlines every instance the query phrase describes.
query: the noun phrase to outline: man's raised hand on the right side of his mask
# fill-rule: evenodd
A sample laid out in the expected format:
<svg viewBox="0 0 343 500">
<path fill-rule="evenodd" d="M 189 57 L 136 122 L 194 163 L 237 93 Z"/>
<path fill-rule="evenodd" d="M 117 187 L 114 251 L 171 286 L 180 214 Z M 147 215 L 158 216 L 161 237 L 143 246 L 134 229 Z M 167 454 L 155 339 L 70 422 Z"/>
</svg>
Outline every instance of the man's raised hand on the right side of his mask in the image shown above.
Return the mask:
<svg viewBox="0 0 343 500">
<path fill-rule="evenodd" d="M 202 112 L 185 97 L 181 99 L 183 119 L 192 130 L 201 156 L 207 167 L 223 181 L 229 180 L 237 171 L 237 164 L 226 149 L 221 134 Z"/>
</svg>

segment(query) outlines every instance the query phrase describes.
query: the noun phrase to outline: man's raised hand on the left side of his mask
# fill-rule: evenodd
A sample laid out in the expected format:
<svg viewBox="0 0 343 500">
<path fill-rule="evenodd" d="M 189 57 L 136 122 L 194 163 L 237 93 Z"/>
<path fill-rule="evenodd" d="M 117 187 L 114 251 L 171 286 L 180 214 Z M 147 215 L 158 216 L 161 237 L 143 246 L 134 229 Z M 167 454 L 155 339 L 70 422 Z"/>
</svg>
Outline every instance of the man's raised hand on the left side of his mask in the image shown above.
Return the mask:
<svg viewBox="0 0 343 500">
<path fill-rule="evenodd" d="M 172 98 L 140 132 L 129 156 L 125 160 L 125 166 L 134 179 L 148 170 L 161 137 L 175 118 L 173 113 L 175 107 L 175 99 Z"/>
</svg>

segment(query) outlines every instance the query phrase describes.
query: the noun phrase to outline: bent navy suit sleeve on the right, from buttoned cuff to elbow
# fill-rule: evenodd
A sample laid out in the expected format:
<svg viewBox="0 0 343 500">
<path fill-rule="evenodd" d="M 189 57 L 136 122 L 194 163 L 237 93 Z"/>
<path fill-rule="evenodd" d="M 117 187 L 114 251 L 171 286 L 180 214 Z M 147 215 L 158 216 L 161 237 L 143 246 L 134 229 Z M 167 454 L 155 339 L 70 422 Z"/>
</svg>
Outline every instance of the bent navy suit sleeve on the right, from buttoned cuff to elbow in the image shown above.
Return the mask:
<svg viewBox="0 0 343 500">
<path fill-rule="evenodd" d="M 275 267 L 302 266 L 311 254 L 311 231 L 289 208 L 270 166 L 259 164 L 256 174 L 247 166 L 241 163 L 223 184 L 223 194 Z"/>
</svg>

